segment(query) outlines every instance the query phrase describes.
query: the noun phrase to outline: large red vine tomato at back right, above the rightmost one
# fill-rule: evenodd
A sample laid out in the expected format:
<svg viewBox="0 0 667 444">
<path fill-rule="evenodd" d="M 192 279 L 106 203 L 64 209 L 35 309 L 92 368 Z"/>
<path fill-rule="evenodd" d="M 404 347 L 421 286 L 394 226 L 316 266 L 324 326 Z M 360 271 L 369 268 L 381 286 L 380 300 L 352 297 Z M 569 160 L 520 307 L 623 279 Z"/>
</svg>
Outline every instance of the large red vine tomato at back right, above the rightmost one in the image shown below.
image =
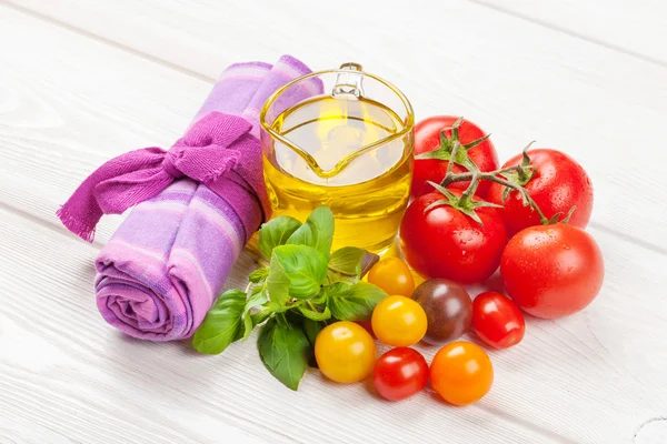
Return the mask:
<svg viewBox="0 0 667 444">
<path fill-rule="evenodd" d="M 593 210 L 593 183 L 586 171 L 569 155 L 549 149 L 528 150 L 530 163 L 535 167 L 532 178 L 524 185 L 547 219 L 556 213 L 567 212 L 576 206 L 569 224 L 586 228 Z M 521 154 L 508 160 L 502 168 L 521 163 Z M 502 204 L 505 186 L 491 183 L 486 199 L 489 202 Z M 531 206 L 524 206 L 521 196 L 511 191 L 505 201 L 505 209 L 499 210 L 507 232 L 511 238 L 525 228 L 539 225 L 540 220 Z"/>
</svg>

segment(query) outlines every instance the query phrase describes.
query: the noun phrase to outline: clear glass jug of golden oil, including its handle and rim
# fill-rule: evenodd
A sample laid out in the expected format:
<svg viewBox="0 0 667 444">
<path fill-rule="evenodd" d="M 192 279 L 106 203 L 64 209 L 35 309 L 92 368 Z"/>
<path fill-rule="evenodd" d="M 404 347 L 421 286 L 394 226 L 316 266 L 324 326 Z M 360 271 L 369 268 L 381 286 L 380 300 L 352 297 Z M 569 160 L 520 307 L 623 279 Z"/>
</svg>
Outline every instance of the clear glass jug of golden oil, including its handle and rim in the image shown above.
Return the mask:
<svg viewBox="0 0 667 444">
<path fill-rule="evenodd" d="M 307 74 L 260 112 L 263 172 L 273 216 L 300 221 L 327 205 L 334 249 L 389 249 L 412 179 L 412 107 L 356 63 Z"/>
</svg>

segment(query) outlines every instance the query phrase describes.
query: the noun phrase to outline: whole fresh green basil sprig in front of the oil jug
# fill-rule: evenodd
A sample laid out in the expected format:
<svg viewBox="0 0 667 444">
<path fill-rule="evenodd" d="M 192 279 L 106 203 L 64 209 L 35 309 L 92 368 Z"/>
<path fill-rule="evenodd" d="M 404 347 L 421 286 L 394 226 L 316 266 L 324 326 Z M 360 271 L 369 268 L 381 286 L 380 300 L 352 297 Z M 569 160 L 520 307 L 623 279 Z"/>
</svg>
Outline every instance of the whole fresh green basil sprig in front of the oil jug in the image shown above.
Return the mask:
<svg viewBox="0 0 667 444">
<path fill-rule="evenodd" d="M 195 333 L 192 346 L 207 354 L 247 340 L 261 325 L 257 347 L 267 370 L 291 390 L 299 387 L 315 340 L 335 321 L 366 321 L 382 290 L 361 276 L 378 256 L 355 246 L 331 253 L 334 214 L 319 206 L 305 223 L 280 216 L 259 230 L 269 261 L 250 273 L 246 292 L 220 295 Z"/>
</svg>

